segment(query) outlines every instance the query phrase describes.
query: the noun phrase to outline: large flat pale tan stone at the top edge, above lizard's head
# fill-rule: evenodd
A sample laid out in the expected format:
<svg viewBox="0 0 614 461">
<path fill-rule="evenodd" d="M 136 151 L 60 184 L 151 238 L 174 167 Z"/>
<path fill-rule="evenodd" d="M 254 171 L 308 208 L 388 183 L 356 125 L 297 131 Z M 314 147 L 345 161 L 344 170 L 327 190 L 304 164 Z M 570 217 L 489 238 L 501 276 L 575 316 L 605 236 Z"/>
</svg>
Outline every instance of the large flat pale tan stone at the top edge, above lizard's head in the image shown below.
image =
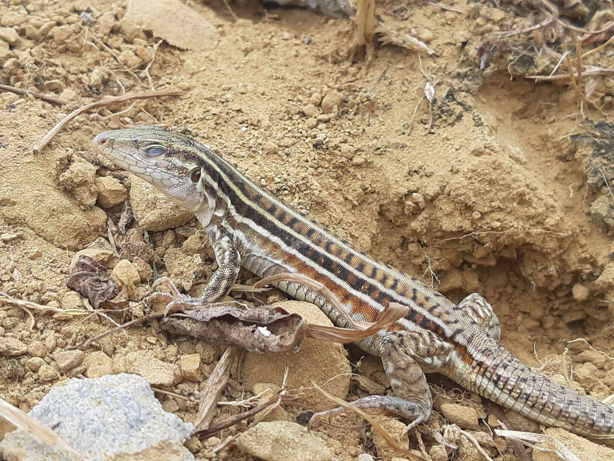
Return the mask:
<svg viewBox="0 0 614 461">
<path fill-rule="evenodd" d="M 185 50 L 211 51 L 220 37 L 205 17 L 179 0 L 131 0 L 122 23 L 141 26 Z"/>
</svg>

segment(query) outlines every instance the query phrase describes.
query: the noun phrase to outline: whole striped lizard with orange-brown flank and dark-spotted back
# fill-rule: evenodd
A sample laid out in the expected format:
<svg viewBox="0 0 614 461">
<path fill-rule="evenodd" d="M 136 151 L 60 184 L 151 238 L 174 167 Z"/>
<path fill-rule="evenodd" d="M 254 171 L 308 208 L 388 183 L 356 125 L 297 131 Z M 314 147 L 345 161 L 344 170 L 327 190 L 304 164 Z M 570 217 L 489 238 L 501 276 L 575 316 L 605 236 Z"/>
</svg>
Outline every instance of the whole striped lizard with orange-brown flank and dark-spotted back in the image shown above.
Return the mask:
<svg viewBox="0 0 614 461">
<path fill-rule="evenodd" d="M 504 408 L 546 426 L 596 439 L 614 436 L 614 408 L 538 374 L 500 344 L 491 304 L 472 293 L 458 304 L 418 278 L 373 258 L 324 225 L 286 205 L 222 156 L 190 136 L 161 127 L 99 133 L 98 151 L 192 211 L 211 242 L 219 268 L 200 297 L 157 291 L 167 309 L 207 305 L 229 293 L 241 267 L 257 277 L 300 274 L 327 286 L 355 320 L 373 322 L 390 302 L 408 314 L 358 343 L 381 357 L 393 395 L 352 404 L 393 411 L 410 421 L 403 433 L 426 422 L 432 395 L 425 372 L 439 372 Z M 321 294 L 295 282 L 273 284 L 290 297 L 315 304 L 342 328 L 349 322 Z M 322 417 L 341 408 L 313 414 Z"/>
</svg>

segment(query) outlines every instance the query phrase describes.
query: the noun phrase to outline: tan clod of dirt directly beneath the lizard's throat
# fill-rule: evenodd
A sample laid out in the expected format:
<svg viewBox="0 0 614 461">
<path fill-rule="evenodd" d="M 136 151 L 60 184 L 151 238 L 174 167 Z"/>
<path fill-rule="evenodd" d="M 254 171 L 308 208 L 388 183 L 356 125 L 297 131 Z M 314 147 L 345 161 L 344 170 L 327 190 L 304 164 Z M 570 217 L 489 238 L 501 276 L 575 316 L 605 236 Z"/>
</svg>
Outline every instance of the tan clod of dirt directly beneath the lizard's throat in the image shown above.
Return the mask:
<svg viewBox="0 0 614 461">
<path fill-rule="evenodd" d="M 166 230 L 182 226 L 194 218 L 185 208 L 171 202 L 144 179 L 131 178 L 130 203 L 143 230 Z"/>
</svg>

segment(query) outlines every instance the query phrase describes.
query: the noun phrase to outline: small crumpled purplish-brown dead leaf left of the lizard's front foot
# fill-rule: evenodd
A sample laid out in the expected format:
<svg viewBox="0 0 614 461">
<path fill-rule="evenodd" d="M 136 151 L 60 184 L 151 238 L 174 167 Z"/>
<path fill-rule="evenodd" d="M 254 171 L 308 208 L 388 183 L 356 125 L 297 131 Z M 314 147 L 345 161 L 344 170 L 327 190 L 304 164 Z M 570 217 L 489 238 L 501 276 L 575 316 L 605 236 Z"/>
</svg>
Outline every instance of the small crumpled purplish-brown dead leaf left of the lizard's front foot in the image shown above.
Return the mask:
<svg viewBox="0 0 614 461">
<path fill-rule="evenodd" d="M 114 299 L 120 291 L 117 282 L 107 276 L 107 268 L 85 254 L 77 259 L 74 273 L 66 279 L 66 285 L 87 297 L 94 309 L 99 309 L 103 302 Z"/>
</svg>

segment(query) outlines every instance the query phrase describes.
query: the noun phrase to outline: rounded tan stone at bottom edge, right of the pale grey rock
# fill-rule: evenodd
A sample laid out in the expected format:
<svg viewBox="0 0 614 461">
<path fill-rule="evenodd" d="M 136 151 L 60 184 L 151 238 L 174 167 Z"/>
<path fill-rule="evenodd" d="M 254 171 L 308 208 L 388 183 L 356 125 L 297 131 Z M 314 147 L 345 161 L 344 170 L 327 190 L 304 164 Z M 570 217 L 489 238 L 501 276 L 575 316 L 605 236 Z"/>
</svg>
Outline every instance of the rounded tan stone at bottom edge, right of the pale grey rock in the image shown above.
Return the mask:
<svg viewBox="0 0 614 461">
<path fill-rule="evenodd" d="M 290 421 L 261 422 L 241 434 L 236 446 L 266 461 L 328 461 L 335 454 L 321 438 Z"/>
</svg>

